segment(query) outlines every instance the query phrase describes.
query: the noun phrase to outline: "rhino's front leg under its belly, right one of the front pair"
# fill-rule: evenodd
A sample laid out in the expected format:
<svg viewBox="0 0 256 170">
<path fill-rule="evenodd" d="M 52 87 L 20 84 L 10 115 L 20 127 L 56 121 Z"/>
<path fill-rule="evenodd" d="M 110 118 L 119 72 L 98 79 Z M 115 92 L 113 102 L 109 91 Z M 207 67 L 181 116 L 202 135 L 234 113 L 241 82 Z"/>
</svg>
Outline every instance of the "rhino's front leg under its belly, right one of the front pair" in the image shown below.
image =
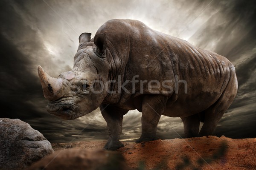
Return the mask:
<svg viewBox="0 0 256 170">
<path fill-rule="evenodd" d="M 153 141 L 157 137 L 157 124 L 166 106 L 167 97 L 162 95 L 145 96 L 142 102 L 142 133 L 136 143 Z"/>
</svg>

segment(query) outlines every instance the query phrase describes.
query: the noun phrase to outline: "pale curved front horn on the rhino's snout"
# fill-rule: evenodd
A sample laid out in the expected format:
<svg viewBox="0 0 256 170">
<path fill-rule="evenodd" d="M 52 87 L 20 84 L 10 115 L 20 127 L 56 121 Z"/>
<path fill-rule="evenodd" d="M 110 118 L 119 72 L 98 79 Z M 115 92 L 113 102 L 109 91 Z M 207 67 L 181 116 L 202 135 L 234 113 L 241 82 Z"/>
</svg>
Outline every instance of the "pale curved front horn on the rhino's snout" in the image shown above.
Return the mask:
<svg viewBox="0 0 256 170">
<path fill-rule="evenodd" d="M 38 65 L 38 76 L 46 99 L 55 100 L 61 97 L 62 79 L 50 77 L 40 65 Z"/>
</svg>

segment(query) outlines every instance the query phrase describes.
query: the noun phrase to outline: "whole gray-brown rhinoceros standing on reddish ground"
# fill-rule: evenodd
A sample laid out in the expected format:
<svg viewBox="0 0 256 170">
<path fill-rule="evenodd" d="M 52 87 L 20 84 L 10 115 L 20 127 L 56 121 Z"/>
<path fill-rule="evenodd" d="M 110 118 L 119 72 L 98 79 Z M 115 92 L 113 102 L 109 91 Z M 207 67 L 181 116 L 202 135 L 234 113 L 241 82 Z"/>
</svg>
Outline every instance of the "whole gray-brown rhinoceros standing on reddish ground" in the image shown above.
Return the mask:
<svg viewBox="0 0 256 170">
<path fill-rule="evenodd" d="M 124 147 L 123 116 L 135 109 L 142 112 L 136 142 L 158 139 L 161 115 L 180 117 L 186 138 L 212 135 L 236 96 L 235 67 L 227 58 L 140 21 L 109 20 L 90 36 L 79 36 L 71 71 L 53 78 L 39 65 L 38 75 L 49 113 L 72 120 L 100 108 L 105 149 Z"/>
</svg>

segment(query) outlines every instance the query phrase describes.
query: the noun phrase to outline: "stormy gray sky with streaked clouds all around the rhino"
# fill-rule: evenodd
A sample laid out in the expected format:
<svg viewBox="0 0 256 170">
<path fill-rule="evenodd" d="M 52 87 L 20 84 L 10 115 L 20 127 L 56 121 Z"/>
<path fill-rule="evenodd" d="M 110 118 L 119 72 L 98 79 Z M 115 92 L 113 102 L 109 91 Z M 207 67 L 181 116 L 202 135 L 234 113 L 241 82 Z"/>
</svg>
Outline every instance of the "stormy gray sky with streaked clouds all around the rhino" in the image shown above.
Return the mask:
<svg viewBox="0 0 256 170">
<path fill-rule="evenodd" d="M 72 69 L 81 33 L 93 37 L 107 20 L 135 19 L 233 62 L 238 94 L 214 135 L 256 137 L 254 0 L 1 0 L 0 8 L 0 117 L 27 122 L 50 142 L 107 139 L 99 109 L 73 121 L 47 113 L 37 66 L 58 77 Z M 138 111 L 125 115 L 121 139 L 140 137 L 140 119 Z M 181 119 L 162 116 L 157 134 L 183 137 Z"/>
</svg>

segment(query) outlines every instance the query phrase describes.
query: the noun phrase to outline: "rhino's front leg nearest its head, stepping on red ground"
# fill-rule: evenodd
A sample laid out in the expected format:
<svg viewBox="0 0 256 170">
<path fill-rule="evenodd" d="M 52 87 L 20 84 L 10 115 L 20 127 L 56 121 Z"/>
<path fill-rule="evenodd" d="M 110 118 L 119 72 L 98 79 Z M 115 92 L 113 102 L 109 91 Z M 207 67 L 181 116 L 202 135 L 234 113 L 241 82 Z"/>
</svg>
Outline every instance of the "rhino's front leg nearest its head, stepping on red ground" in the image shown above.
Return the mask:
<svg viewBox="0 0 256 170">
<path fill-rule="evenodd" d="M 124 144 L 119 139 L 122 133 L 123 115 L 128 111 L 110 105 L 101 105 L 99 108 L 108 126 L 108 142 L 104 148 L 107 150 L 117 150 L 120 147 L 124 147 Z"/>
</svg>

